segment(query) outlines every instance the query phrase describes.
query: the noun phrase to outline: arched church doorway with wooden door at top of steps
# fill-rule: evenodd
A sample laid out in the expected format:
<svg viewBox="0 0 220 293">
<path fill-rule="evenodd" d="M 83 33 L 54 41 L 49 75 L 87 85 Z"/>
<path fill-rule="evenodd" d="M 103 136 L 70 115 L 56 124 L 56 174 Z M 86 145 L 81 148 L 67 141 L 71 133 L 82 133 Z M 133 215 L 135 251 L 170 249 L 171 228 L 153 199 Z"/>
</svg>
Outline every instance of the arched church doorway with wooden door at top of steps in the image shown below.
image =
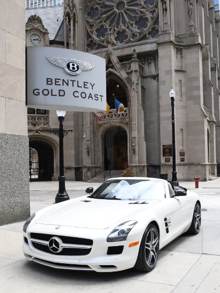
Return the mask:
<svg viewBox="0 0 220 293">
<path fill-rule="evenodd" d="M 122 170 L 128 163 L 128 135 L 121 126 L 111 127 L 104 135 L 105 169 Z"/>
</svg>

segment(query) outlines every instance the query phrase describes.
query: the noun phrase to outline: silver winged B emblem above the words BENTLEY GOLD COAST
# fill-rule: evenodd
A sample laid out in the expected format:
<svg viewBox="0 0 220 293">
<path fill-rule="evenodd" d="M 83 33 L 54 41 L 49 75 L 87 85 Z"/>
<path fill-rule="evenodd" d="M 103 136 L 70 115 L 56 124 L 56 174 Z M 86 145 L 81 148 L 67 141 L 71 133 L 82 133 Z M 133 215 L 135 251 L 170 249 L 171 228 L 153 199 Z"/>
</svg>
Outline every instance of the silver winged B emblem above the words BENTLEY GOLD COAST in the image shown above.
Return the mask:
<svg viewBox="0 0 220 293">
<path fill-rule="evenodd" d="M 82 71 L 91 70 L 95 64 L 85 61 L 77 61 L 76 59 L 67 59 L 59 57 L 45 57 L 50 63 L 58 67 L 63 67 L 70 75 L 78 75 Z"/>
</svg>

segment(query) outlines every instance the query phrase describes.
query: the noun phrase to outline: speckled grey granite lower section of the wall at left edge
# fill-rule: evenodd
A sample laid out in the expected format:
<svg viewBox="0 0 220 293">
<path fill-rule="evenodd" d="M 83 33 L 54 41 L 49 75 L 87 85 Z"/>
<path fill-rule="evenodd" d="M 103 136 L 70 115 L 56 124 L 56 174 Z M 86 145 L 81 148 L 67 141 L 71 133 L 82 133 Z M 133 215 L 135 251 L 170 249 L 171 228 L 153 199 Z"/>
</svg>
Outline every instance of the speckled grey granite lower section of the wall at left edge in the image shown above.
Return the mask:
<svg viewBox="0 0 220 293">
<path fill-rule="evenodd" d="M 28 138 L 0 133 L 0 225 L 29 214 Z"/>
</svg>

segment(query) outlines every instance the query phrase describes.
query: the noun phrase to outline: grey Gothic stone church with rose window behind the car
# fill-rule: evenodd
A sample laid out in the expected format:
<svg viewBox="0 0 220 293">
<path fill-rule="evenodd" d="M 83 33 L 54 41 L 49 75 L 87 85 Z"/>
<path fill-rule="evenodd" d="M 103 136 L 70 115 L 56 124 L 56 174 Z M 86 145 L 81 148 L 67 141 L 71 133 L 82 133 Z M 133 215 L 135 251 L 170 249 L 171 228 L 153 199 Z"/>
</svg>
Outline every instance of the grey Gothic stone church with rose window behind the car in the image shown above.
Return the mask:
<svg viewBox="0 0 220 293">
<path fill-rule="evenodd" d="M 87 180 L 95 170 L 126 163 L 138 176 L 171 178 L 172 87 L 178 180 L 217 175 L 219 19 L 214 0 L 66 0 L 26 9 L 27 46 L 37 33 L 37 45 L 106 59 L 109 113 L 101 120 L 94 113 L 66 114 L 64 125 L 73 130 L 65 137 L 66 179 Z M 124 113 L 116 113 L 114 97 Z M 28 111 L 30 177 L 57 179 L 58 138 L 50 132 L 59 126 L 56 114 Z"/>
</svg>

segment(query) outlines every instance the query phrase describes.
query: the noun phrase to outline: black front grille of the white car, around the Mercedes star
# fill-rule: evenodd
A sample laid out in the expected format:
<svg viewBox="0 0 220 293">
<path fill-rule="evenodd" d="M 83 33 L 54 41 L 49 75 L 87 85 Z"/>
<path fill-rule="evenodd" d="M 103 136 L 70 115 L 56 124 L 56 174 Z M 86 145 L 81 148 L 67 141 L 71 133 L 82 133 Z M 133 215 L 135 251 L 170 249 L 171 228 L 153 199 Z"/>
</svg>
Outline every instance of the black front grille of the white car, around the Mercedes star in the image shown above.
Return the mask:
<svg viewBox="0 0 220 293">
<path fill-rule="evenodd" d="M 57 255 L 87 255 L 90 253 L 93 245 L 91 239 L 52 235 L 43 233 L 31 233 L 31 243 L 37 250 Z M 58 237 L 61 240 L 61 251 L 52 251 L 49 248 L 49 240 Z M 59 241 L 60 241 L 59 240 Z"/>
</svg>

